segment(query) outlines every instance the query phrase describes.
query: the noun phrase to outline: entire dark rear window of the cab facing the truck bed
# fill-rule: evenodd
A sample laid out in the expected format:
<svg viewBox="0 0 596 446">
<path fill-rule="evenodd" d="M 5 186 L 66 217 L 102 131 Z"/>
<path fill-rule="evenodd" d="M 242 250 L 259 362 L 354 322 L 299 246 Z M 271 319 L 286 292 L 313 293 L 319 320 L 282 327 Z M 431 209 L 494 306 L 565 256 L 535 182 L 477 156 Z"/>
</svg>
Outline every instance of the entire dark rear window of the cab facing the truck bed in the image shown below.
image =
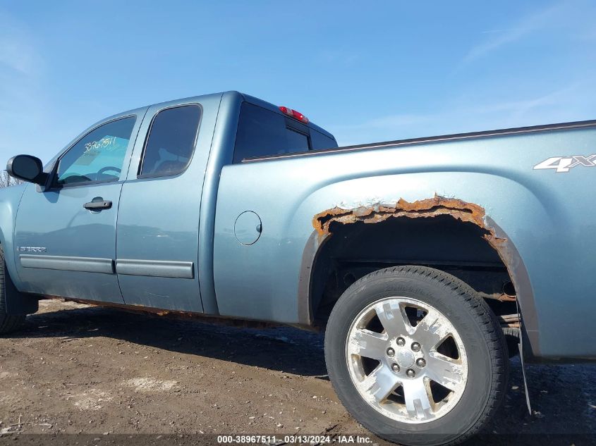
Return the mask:
<svg viewBox="0 0 596 446">
<path fill-rule="evenodd" d="M 243 102 L 238 118 L 233 163 L 257 156 L 291 154 L 337 147 L 331 137 L 264 107 Z"/>
</svg>

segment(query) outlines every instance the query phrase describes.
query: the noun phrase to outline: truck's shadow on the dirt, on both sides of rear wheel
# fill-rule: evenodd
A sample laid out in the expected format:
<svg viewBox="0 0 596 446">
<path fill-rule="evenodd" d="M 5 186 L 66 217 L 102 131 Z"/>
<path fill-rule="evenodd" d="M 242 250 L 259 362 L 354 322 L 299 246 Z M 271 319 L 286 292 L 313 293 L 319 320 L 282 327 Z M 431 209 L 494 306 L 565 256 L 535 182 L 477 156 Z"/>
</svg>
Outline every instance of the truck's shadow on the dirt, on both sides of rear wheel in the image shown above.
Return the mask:
<svg viewBox="0 0 596 446">
<path fill-rule="evenodd" d="M 296 328 L 214 326 L 197 320 L 85 307 L 29 316 L 13 337 L 110 337 L 182 354 L 328 379 L 324 337 Z M 596 441 L 596 367 L 529 365 L 533 415 L 525 403 L 518 358 L 506 399 L 485 433 L 466 445 L 583 445 Z M 380 444 L 384 441 L 378 440 Z"/>
</svg>

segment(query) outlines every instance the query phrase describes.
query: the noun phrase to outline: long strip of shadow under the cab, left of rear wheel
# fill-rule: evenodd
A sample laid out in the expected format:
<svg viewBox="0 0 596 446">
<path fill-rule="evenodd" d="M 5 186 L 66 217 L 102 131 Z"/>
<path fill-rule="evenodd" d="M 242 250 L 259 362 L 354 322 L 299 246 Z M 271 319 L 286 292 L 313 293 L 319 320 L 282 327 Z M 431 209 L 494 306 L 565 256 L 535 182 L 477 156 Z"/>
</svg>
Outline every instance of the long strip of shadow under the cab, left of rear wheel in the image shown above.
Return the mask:
<svg viewBox="0 0 596 446">
<path fill-rule="evenodd" d="M 236 328 L 89 306 L 28 316 L 25 328 L 13 335 L 99 336 L 301 376 L 327 376 L 323 335 L 291 327 Z"/>
</svg>

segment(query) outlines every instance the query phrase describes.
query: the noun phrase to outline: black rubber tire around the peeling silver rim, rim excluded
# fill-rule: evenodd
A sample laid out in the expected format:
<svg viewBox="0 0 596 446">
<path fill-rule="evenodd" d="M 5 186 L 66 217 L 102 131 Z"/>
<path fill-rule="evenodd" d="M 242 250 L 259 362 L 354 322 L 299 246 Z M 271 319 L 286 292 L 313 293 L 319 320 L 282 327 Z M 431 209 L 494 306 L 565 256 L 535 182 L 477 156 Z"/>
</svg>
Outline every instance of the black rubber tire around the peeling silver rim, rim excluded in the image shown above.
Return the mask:
<svg viewBox="0 0 596 446">
<path fill-rule="evenodd" d="M 355 388 L 346 363 L 346 340 L 355 318 L 379 299 L 408 297 L 440 311 L 466 349 L 468 378 L 461 399 L 438 419 L 406 423 L 385 416 Z M 458 444 L 478 433 L 504 397 L 507 346 L 488 305 L 466 283 L 421 266 L 399 266 L 365 275 L 341 295 L 325 333 L 325 360 L 333 387 L 350 414 L 379 437 L 402 445 Z"/>
</svg>

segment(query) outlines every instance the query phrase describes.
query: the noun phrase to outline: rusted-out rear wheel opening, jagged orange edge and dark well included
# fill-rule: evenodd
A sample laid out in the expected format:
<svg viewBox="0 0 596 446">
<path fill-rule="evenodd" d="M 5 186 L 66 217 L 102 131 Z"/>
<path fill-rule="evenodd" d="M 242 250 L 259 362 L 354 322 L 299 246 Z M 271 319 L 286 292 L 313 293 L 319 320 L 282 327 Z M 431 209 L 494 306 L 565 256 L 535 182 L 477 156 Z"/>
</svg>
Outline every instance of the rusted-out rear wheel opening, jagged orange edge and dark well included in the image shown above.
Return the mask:
<svg viewBox="0 0 596 446">
<path fill-rule="evenodd" d="M 413 218 L 425 220 L 420 231 L 418 225 L 408 222 Z M 463 224 L 449 223 L 450 218 Z M 378 230 L 367 230 L 376 223 L 382 223 Z M 422 265 L 447 271 L 468 283 L 495 314 L 516 314 L 520 328 L 520 313 L 525 311 L 524 330 L 531 336 L 533 351 L 536 349 L 537 323 L 528 272 L 504 229 L 483 206 L 438 194 L 413 202 L 403 198 L 397 202 L 371 201 L 317 213 L 312 226 L 312 243 L 307 245 L 303 260 L 308 266 L 303 268 L 299 287 L 300 295 L 307 297 L 300 301 L 305 302 L 301 311 L 307 323 L 324 324 L 353 280 L 387 266 Z M 411 242 L 410 234 L 415 235 Z M 395 240 L 385 243 L 387 237 Z M 458 240 L 465 244 L 458 245 Z M 453 258 L 449 249 L 456 250 Z M 324 285 L 317 285 L 320 283 Z"/>
</svg>

